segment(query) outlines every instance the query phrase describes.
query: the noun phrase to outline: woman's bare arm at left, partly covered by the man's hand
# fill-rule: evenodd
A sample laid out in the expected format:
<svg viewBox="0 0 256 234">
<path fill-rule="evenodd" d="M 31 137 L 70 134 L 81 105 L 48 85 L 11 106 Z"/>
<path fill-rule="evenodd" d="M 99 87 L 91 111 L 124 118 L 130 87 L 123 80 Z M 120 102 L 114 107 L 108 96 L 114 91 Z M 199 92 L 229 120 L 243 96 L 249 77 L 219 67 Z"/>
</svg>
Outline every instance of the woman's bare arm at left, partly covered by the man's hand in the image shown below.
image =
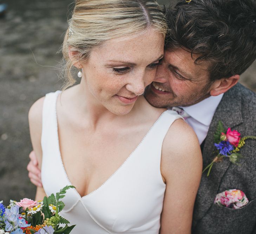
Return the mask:
<svg viewBox="0 0 256 234">
<path fill-rule="evenodd" d="M 41 148 L 41 133 L 42 133 L 42 106 L 44 98 L 37 100 L 29 110 L 28 122 L 29 131 L 32 142 L 33 151 L 37 157 L 38 167 L 41 168 L 42 164 L 42 148 Z M 46 196 L 42 187 L 37 187 L 35 195 L 36 200 L 42 200 Z"/>
</svg>

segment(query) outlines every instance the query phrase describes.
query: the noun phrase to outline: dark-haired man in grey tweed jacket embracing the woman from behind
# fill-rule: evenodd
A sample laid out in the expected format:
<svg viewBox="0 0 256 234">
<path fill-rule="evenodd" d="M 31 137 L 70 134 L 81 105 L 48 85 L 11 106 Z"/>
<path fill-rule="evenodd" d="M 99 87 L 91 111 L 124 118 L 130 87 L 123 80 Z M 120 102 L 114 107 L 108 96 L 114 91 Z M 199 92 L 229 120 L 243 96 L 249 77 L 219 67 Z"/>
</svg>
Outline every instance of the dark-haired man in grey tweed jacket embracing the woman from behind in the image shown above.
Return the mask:
<svg viewBox="0 0 256 234">
<path fill-rule="evenodd" d="M 216 156 L 219 121 L 242 136 L 256 135 L 256 94 L 237 83 L 256 58 L 256 1 L 179 0 L 167 10 L 167 19 L 165 55 L 145 98 L 156 107 L 182 107 L 206 167 Z M 224 159 L 209 177 L 202 174 L 192 233 L 256 233 L 256 141 L 245 141 L 241 154 L 239 165 Z M 30 157 L 29 177 L 38 185 L 33 152 Z M 242 190 L 249 203 L 236 210 L 214 204 L 215 196 L 228 189 Z"/>
</svg>

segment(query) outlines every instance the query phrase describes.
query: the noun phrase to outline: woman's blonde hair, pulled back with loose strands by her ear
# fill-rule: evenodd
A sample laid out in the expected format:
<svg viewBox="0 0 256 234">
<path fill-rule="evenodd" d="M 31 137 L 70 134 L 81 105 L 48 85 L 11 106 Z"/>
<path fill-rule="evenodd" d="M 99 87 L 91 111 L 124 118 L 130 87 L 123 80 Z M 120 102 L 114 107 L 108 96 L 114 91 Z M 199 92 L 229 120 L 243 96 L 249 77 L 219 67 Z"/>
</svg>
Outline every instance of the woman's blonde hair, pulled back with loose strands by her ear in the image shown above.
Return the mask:
<svg viewBox="0 0 256 234">
<path fill-rule="evenodd" d="M 76 0 L 68 25 L 62 49 L 64 89 L 76 81 L 73 64 L 86 62 L 92 49 L 105 41 L 142 34 L 148 28 L 164 36 L 167 31 L 164 13 L 155 0 Z M 75 61 L 70 60 L 69 50 L 75 52 Z"/>
</svg>

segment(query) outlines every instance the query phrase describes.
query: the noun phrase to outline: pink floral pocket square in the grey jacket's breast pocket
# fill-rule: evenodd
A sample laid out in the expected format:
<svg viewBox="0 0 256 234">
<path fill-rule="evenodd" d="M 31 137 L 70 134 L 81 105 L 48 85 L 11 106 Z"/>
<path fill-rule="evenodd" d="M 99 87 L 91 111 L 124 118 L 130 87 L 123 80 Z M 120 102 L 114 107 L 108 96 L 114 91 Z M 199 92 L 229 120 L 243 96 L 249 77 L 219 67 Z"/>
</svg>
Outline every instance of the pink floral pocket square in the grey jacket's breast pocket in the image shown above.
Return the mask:
<svg viewBox="0 0 256 234">
<path fill-rule="evenodd" d="M 222 193 L 218 193 L 214 200 L 214 204 L 231 209 L 239 209 L 247 203 L 248 199 L 244 192 L 238 189 L 229 189 Z"/>
</svg>

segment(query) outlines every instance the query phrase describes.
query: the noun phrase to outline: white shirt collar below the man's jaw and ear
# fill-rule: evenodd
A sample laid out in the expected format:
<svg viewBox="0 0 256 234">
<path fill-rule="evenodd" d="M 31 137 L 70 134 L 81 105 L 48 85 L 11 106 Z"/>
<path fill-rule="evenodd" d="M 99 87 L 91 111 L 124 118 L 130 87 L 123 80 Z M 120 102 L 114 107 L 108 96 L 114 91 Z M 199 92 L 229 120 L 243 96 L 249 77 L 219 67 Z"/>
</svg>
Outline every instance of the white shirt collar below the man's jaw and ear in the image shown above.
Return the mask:
<svg viewBox="0 0 256 234">
<path fill-rule="evenodd" d="M 210 96 L 192 106 L 181 107 L 193 119 L 205 126 L 210 126 L 214 113 L 223 97 L 223 93 L 218 96 Z"/>
</svg>

